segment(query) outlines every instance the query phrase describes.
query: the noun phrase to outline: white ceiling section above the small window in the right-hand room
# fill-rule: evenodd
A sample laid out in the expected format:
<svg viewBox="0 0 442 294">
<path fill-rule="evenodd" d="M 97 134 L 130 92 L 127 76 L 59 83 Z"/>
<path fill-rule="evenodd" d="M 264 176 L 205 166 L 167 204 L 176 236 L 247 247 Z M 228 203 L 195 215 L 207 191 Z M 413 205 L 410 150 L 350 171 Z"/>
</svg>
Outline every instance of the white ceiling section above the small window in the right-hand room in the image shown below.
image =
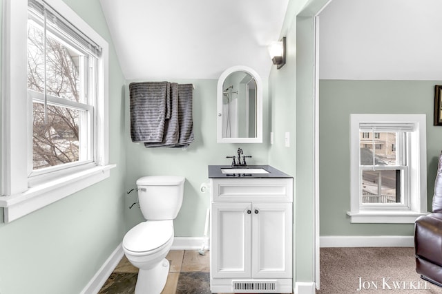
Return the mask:
<svg viewBox="0 0 442 294">
<path fill-rule="evenodd" d="M 333 0 L 320 14 L 320 78 L 442 80 L 441 11 L 440 0 Z"/>
</svg>

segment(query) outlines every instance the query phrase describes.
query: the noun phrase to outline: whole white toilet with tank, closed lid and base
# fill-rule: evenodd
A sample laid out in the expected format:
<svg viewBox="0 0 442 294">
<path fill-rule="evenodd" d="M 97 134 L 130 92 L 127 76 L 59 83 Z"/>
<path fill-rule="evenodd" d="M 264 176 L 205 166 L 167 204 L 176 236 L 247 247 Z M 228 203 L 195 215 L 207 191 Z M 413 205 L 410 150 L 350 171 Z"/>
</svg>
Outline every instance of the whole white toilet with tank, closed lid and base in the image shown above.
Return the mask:
<svg viewBox="0 0 442 294">
<path fill-rule="evenodd" d="M 137 180 L 138 201 L 145 222 L 124 235 L 126 258 L 138 269 L 135 294 L 160 294 L 169 273 L 166 255 L 173 243 L 173 219 L 184 193 L 181 176 L 145 176 Z"/>
</svg>

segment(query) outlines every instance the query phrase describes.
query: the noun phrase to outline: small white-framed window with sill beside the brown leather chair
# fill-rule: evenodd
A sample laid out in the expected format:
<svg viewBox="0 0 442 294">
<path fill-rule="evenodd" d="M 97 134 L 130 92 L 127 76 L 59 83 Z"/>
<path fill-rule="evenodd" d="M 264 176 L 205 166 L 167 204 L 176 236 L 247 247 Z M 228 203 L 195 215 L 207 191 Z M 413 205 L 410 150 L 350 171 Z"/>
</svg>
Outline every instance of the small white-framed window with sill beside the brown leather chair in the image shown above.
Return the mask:
<svg viewBox="0 0 442 294">
<path fill-rule="evenodd" d="M 351 222 L 414 222 L 427 210 L 425 115 L 352 114 L 350 129 Z"/>
</svg>

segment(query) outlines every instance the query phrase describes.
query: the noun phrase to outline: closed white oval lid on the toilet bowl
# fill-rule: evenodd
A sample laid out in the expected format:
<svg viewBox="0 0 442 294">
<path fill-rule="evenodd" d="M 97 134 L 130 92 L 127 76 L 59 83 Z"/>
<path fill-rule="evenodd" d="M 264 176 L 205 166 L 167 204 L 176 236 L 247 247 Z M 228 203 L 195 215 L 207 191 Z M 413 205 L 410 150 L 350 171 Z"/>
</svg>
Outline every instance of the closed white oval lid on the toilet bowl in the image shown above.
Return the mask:
<svg viewBox="0 0 442 294">
<path fill-rule="evenodd" d="M 133 252 L 151 251 L 163 246 L 172 236 L 171 220 L 147 220 L 124 235 L 123 246 Z"/>
</svg>

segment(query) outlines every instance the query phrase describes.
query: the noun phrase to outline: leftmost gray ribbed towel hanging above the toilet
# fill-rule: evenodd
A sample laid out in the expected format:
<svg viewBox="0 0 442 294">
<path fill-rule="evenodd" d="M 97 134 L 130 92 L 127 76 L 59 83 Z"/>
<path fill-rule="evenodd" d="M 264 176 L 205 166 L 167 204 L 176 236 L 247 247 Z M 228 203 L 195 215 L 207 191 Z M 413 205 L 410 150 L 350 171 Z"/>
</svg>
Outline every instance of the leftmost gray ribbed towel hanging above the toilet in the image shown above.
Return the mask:
<svg viewBox="0 0 442 294">
<path fill-rule="evenodd" d="M 129 84 L 133 142 L 161 143 L 169 99 L 168 82 Z M 170 107 L 169 107 L 170 108 Z"/>
</svg>

